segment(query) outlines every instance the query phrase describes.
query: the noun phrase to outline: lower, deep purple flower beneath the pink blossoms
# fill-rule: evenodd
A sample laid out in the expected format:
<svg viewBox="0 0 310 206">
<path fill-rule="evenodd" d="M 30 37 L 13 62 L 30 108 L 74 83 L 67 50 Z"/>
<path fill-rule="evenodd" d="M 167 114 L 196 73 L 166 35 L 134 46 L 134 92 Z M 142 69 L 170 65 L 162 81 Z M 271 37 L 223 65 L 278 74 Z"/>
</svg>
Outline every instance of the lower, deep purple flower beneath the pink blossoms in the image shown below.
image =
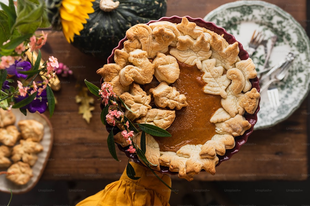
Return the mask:
<svg viewBox="0 0 310 206">
<path fill-rule="evenodd" d="M 42 86 L 41 86 L 42 87 Z M 31 89 L 33 90 L 33 89 Z M 29 92 L 31 92 L 31 90 L 29 90 Z M 21 100 L 27 98 L 29 95 L 27 94 L 25 97 L 22 96 L 18 96 L 17 98 L 15 98 L 16 103 L 20 102 Z M 28 109 L 29 112 L 34 113 L 36 111 L 43 113 L 46 111 L 47 109 L 47 94 L 46 94 L 46 90 L 43 90 L 41 95 L 37 95 L 37 99 L 34 99 L 30 104 L 21 107 L 22 109 Z"/>
</svg>

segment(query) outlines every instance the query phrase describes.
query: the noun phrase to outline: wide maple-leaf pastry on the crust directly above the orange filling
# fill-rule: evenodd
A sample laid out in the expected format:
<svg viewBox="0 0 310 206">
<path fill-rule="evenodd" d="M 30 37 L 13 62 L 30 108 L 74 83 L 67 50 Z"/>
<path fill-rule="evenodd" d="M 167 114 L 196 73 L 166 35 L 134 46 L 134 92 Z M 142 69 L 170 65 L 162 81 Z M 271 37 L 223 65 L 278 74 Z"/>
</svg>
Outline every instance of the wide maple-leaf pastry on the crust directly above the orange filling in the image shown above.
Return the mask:
<svg viewBox="0 0 310 206">
<path fill-rule="evenodd" d="M 197 68 L 201 69 L 201 61 L 208 59 L 212 54 L 210 38 L 209 33 L 202 33 L 197 40 L 190 36 L 179 36 L 177 46 L 170 50 L 170 54 L 180 62 L 197 65 Z"/>
</svg>

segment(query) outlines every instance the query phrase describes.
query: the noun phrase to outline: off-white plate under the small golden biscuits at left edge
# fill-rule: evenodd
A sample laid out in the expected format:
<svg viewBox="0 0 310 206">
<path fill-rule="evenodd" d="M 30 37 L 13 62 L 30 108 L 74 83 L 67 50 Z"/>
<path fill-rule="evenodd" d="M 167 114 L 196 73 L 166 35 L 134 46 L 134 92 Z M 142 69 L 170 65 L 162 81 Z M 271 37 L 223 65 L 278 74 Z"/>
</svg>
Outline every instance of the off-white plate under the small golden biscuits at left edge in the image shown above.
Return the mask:
<svg viewBox="0 0 310 206">
<path fill-rule="evenodd" d="M 16 126 L 20 120 L 37 120 L 44 125 L 44 136 L 40 142 L 43 146 L 43 151 L 38 153 L 38 161 L 32 167 L 33 177 L 30 181 L 25 185 L 16 185 L 6 179 L 5 175 L 0 175 L 0 191 L 9 193 L 10 191 L 8 189 L 11 189 L 13 193 L 18 194 L 30 191 L 40 179 L 51 153 L 51 148 L 53 145 L 53 131 L 50 121 L 42 114 L 27 112 L 27 116 L 24 116 L 19 109 L 12 109 L 12 111 L 16 116 Z"/>
</svg>

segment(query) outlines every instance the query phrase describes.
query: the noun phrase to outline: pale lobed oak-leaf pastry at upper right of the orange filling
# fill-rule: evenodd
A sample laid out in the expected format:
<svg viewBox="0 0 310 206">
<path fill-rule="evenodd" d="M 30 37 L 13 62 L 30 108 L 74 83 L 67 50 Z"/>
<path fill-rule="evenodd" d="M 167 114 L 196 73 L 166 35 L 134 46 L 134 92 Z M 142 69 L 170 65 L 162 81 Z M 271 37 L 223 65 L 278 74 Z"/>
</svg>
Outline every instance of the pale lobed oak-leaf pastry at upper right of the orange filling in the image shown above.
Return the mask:
<svg viewBox="0 0 310 206">
<path fill-rule="evenodd" d="M 222 98 L 227 97 L 226 88 L 231 82 L 226 75 L 223 75 L 224 68 L 222 66 L 215 67 L 216 60 L 208 59 L 202 61 L 202 69 L 204 72 L 202 80 L 206 82 L 203 91 L 208 94 L 221 95 Z"/>
</svg>

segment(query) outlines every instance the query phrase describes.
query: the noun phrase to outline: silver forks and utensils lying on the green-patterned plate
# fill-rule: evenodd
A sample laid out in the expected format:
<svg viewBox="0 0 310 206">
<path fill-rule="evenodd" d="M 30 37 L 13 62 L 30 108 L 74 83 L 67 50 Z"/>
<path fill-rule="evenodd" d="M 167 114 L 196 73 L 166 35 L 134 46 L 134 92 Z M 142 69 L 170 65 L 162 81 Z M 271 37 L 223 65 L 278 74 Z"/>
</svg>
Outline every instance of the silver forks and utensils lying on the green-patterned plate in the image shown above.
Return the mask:
<svg viewBox="0 0 310 206">
<path fill-rule="evenodd" d="M 252 57 L 259 45 L 262 45 L 263 41 L 265 41 L 263 33 L 256 33 L 255 30 L 249 42 L 249 57 Z M 289 52 L 286 57 L 277 65 L 267 68 L 268 61 L 276 41 L 277 36 L 272 36 L 271 44 L 270 47 L 267 49 L 263 67 L 259 68 L 259 71 L 257 72 L 257 75 L 259 77 L 259 84 L 261 86 L 260 91 L 262 92 L 263 90 L 267 89 L 268 100 L 273 108 L 277 108 L 280 106 L 279 90 L 277 88 L 276 82 L 280 82 L 285 79 L 288 73 L 289 65 L 295 57 L 294 53 Z"/>
</svg>

